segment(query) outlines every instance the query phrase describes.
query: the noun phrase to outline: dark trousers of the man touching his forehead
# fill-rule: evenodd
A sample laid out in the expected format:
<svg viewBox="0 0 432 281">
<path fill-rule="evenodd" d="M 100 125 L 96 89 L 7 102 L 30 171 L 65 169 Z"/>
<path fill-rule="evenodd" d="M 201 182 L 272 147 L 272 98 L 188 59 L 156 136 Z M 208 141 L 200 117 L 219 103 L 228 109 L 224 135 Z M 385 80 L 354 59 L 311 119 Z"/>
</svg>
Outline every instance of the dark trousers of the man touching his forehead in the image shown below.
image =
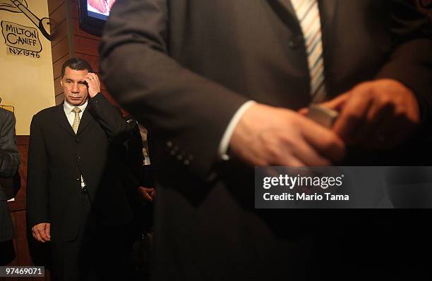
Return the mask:
<svg viewBox="0 0 432 281">
<path fill-rule="evenodd" d="M 70 242 L 52 244 L 52 280 L 126 280 L 131 225 L 86 225 L 90 211 L 90 199 L 83 192 L 78 236 Z"/>
</svg>

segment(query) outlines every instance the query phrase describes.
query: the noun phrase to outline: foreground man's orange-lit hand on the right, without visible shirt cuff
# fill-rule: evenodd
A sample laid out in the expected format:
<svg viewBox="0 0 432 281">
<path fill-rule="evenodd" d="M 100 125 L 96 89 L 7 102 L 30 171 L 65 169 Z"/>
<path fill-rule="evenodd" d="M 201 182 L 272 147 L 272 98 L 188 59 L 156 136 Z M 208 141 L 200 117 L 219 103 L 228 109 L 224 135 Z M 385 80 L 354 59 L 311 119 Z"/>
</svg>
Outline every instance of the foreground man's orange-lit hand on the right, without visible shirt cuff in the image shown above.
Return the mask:
<svg viewBox="0 0 432 281">
<path fill-rule="evenodd" d="M 394 147 L 420 124 L 416 97 L 396 80 L 361 83 L 322 105 L 340 111 L 333 130 L 347 144 Z"/>
</svg>

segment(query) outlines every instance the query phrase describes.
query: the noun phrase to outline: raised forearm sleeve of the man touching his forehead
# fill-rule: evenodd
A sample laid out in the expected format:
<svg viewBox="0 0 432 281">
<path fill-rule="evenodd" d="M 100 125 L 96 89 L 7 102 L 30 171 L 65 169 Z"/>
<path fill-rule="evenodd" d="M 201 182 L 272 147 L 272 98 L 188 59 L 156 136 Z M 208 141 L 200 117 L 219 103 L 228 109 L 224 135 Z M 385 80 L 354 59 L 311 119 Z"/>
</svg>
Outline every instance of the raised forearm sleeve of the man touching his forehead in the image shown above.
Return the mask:
<svg viewBox="0 0 432 281">
<path fill-rule="evenodd" d="M 107 133 L 110 142 L 122 144 L 131 134 L 131 128 L 126 120 L 121 118 L 119 111 L 109 103 L 103 94 L 99 93 L 89 99 L 90 110 L 94 113 L 97 122 Z"/>
</svg>

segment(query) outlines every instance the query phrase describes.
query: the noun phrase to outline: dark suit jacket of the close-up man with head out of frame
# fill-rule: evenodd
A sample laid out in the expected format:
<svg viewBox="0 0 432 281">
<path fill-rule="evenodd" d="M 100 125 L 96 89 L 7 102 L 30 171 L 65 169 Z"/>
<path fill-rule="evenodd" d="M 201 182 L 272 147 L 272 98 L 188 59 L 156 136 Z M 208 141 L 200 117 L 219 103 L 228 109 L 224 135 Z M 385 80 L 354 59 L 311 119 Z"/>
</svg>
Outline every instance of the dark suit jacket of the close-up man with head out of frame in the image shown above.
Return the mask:
<svg viewBox="0 0 432 281">
<path fill-rule="evenodd" d="M 365 80 L 395 79 L 414 90 L 426 120 L 430 25 L 411 1 L 318 2 L 329 96 Z M 102 76 L 157 139 L 161 279 L 286 279 L 308 264 L 301 260 L 310 243 L 302 237 L 327 231 L 313 229 L 319 216 L 255 210 L 253 171 L 217 161 L 222 135 L 245 101 L 295 110 L 311 100 L 304 40 L 289 3 L 114 4 L 100 46 Z"/>
</svg>

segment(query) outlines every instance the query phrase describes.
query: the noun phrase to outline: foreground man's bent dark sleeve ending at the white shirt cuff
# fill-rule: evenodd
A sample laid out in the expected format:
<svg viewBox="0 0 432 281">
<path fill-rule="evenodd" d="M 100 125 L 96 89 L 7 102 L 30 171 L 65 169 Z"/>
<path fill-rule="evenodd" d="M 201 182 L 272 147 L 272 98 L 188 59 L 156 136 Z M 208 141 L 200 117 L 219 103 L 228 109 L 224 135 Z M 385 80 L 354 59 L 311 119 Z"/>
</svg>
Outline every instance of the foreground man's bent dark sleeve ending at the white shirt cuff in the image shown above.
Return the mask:
<svg viewBox="0 0 432 281">
<path fill-rule="evenodd" d="M 116 100 L 166 144 L 165 153 L 176 148 L 203 179 L 229 120 L 247 99 L 169 56 L 167 2 L 114 5 L 100 46 L 102 77 Z"/>
</svg>

